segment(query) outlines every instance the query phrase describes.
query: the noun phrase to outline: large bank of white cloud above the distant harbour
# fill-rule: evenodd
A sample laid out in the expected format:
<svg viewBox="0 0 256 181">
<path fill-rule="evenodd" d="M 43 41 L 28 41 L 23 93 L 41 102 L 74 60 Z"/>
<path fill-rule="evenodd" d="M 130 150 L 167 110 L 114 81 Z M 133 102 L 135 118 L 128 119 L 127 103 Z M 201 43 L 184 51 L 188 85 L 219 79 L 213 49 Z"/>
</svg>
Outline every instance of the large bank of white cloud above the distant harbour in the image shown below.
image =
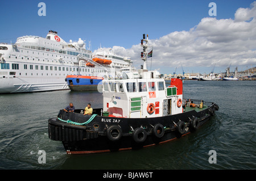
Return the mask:
<svg viewBox="0 0 256 181">
<path fill-rule="evenodd" d="M 256 63 L 255 18 L 256 2 L 253 2 L 250 8 L 238 9 L 234 19 L 203 18 L 189 31 L 175 31 L 150 40 L 154 47 L 152 65 L 155 68 L 253 65 Z M 137 68 L 143 64 L 140 44 L 130 49 L 114 46 L 112 50 L 131 57 Z"/>
</svg>

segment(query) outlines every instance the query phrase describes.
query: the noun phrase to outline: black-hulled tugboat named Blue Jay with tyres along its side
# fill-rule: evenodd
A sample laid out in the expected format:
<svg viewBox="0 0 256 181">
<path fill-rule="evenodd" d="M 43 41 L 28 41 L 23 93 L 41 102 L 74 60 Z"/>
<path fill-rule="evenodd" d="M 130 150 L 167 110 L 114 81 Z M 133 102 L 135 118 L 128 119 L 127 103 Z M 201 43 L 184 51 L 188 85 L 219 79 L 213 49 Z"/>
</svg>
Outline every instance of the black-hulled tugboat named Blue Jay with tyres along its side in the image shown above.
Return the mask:
<svg viewBox="0 0 256 181">
<path fill-rule="evenodd" d="M 141 149 L 195 132 L 214 116 L 216 103 L 183 98 L 181 79 L 166 87 L 158 71 L 148 71 L 144 34 L 141 46 L 144 65 L 138 76 L 127 72 L 123 79 L 103 79 L 103 107 L 92 115 L 60 110 L 48 120 L 49 139 L 62 141 L 68 154 Z"/>
</svg>

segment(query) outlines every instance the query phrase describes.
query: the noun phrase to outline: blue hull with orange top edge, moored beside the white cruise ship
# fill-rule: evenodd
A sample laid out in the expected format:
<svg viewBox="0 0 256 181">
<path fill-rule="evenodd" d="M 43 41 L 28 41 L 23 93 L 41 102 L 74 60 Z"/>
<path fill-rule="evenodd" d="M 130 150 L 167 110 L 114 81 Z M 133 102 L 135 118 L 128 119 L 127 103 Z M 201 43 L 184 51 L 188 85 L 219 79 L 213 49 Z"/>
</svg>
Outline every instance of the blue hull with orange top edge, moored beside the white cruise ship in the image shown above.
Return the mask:
<svg viewBox="0 0 256 181">
<path fill-rule="evenodd" d="M 97 90 L 102 84 L 102 77 L 68 75 L 65 79 L 71 91 Z"/>
</svg>

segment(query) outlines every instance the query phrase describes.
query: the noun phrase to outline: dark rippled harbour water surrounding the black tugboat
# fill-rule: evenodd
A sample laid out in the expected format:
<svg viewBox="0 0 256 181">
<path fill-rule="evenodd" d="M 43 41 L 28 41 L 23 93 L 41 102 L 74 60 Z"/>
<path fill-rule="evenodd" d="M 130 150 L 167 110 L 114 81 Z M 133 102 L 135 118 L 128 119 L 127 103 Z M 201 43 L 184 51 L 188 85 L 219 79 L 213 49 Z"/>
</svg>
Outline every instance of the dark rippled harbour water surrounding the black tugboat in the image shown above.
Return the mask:
<svg viewBox="0 0 256 181">
<path fill-rule="evenodd" d="M 168 81 L 167 81 L 168 85 Z M 102 107 L 98 91 L 0 95 L 0 169 L 256 169 L 256 81 L 184 81 L 185 98 L 215 102 L 216 116 L 198 131 L 163 145 L 68 155 L 48 138 L 48 119 L 72 102 Z M 39 163 L 39 150 L 46 163 Z M 217 163 L 209 163 L 210 150 Z"/>
</svg>

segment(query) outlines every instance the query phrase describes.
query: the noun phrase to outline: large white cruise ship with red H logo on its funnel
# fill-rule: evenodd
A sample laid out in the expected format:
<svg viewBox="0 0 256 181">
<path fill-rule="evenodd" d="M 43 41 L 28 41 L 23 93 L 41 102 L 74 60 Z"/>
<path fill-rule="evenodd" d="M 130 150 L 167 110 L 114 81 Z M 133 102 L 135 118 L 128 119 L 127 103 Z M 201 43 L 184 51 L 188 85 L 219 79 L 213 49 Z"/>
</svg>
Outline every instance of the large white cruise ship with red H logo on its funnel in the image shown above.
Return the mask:
<svg viewBox="0 0 256 181">
<path fill-rule="evenodd" d="M 18 37 L 15 44 L 0 44 L 0 94 L 69 89 L 67 75 L 97 76 L 104 72 L 99 66 L 87 66 L 78 57 L 92 60 L 92 51 L 86 50 L 79 39 L 66 43 L 50 30 L 46 38 L 39 36 Z M 121 66 L 113 58 L 110 73 Z M 123 61 L 126 65 L 129 61 Z M 122 68 L 124 66 L 121 66 Z"/>
</svg>

